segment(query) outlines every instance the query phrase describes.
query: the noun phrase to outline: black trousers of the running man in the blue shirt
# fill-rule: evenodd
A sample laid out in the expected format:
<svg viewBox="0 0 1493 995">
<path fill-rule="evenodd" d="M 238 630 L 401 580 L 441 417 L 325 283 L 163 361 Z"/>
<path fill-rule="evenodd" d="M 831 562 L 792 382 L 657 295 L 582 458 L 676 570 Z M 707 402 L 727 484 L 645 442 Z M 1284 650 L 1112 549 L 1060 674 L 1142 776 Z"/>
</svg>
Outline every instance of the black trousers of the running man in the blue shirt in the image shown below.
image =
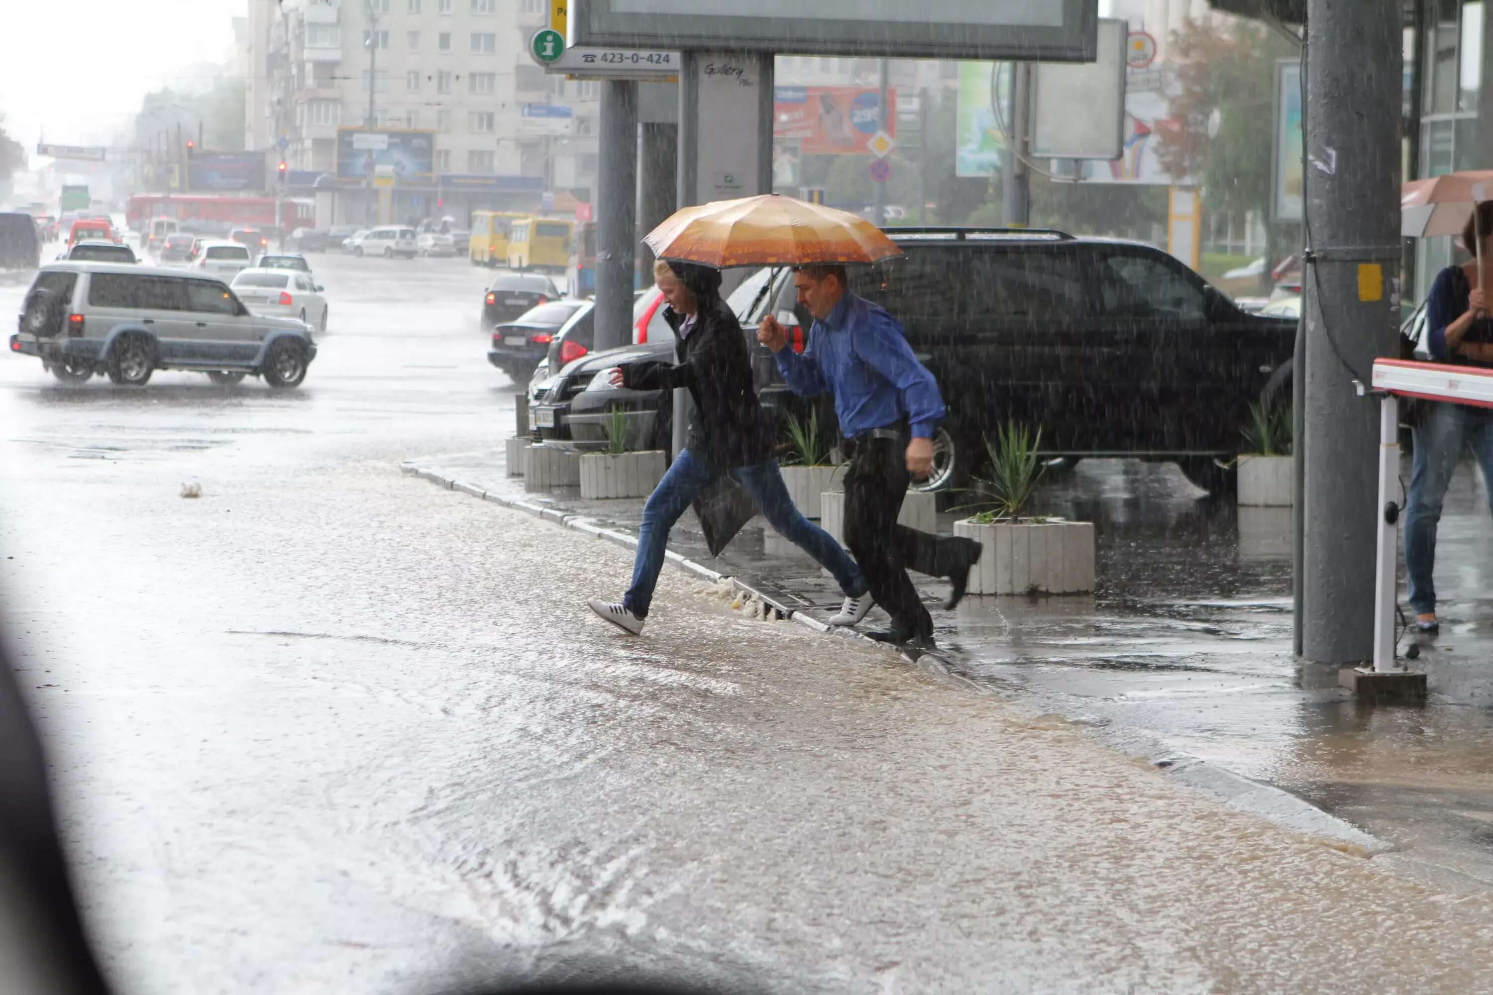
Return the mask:
<svg viewBox="0 0 1493 995">
<path fill-rule="evenodd" d="M 893 628 L 933 635 L 933 619 L 908 570 L 945 577 L 957 565 L 959 549 L 951 539 L 897 525 L 911 479 L 905 439 L 860 436 L 847 445 L 851 458 L 845 470 L 845 544 L 876 604 L 891 616 Z"/>
</svg>

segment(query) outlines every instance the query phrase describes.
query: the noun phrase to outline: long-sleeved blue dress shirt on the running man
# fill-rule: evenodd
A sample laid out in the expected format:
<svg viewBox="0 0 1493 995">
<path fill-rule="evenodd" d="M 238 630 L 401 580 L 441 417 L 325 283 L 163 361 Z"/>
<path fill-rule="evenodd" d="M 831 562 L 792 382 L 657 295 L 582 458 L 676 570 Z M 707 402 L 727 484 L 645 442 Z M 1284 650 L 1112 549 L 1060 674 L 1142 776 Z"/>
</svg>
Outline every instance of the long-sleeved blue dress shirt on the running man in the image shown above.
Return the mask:
<svg viewBox="0 0 1493 995">
<path fill-rule="evenodd" d="M 944 418 L 938 382 L 912 355 L 902 324 L 850 291 L 829 318 L 814 322 L 802 354 L 784 348 L 776 360 L 794 394 L 835 395 L 835 413 L 847 439 L 890 428 L 903 418 L 914 437 L 932 439 Z"/>
</svg>

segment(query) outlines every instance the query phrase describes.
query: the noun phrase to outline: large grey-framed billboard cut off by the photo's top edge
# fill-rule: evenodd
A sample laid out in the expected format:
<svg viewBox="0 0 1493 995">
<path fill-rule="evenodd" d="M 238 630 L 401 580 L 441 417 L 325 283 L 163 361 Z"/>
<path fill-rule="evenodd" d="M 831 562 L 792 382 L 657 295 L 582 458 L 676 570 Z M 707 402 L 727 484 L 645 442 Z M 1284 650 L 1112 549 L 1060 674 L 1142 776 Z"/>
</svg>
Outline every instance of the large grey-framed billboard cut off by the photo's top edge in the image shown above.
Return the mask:
<svg viewBox="0 0 1493 995">
<path fill-rule="evenodd" d="M 581 0 L 570 45 L 1091 61 L 1099 0 Z"/>
</svg>

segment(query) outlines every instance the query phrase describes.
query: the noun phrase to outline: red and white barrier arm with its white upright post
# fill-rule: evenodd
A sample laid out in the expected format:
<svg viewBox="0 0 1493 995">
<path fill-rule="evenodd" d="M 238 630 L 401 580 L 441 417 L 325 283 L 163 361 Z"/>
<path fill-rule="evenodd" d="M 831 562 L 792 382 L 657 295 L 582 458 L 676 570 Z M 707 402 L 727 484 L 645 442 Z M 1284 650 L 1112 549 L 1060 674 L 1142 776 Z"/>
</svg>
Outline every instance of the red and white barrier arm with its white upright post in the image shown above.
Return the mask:
<svg viewBox="0 0 1493 995">
<path fill-rule="evenodd" d="M 1374 391 L 1384 394 L 1380 406 L 1380 536 L 1374 583 L 1374 670 L 1394 670 L 1394 562 L 1397 555 L 1396 515 L 1387 515 L 1399 501 L 1399 398 L 1451 401 L 1493 407 L 1493 370 L 1483 367 L 1375 360 Z"/>
</svg>

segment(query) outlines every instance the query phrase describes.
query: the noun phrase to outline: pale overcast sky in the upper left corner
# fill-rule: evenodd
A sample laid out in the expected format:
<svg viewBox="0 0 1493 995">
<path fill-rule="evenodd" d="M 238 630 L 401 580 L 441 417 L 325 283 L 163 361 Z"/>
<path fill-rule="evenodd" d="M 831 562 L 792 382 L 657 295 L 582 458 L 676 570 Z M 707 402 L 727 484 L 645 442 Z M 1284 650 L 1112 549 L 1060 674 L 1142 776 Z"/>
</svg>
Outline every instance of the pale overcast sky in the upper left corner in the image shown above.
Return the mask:
<svg viewBox="0 0 1493 995">
<path fill-rule="evenodd" d="M 234 16 L 273 0 L 0 0 L 0 113 L 28 152 L 106 142 L 140 98 L 219 63 Z"/>
</svg>

